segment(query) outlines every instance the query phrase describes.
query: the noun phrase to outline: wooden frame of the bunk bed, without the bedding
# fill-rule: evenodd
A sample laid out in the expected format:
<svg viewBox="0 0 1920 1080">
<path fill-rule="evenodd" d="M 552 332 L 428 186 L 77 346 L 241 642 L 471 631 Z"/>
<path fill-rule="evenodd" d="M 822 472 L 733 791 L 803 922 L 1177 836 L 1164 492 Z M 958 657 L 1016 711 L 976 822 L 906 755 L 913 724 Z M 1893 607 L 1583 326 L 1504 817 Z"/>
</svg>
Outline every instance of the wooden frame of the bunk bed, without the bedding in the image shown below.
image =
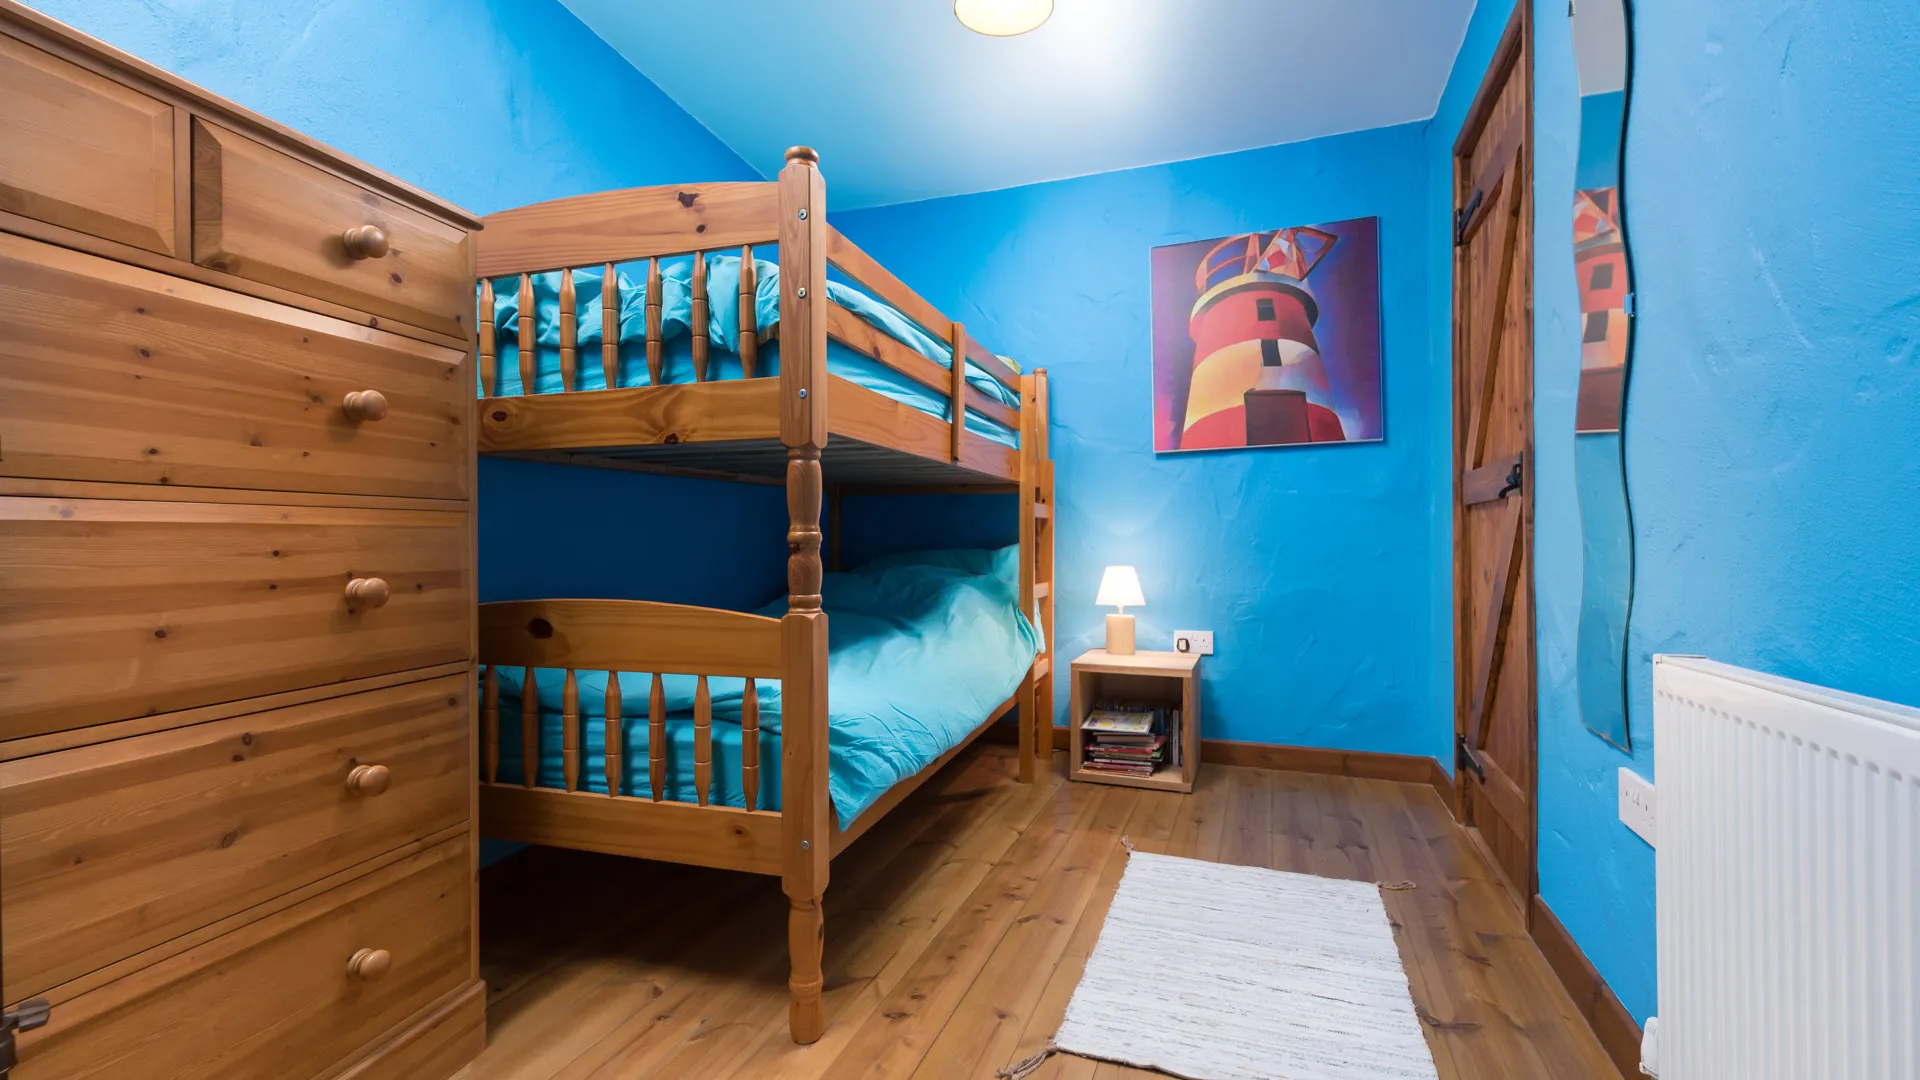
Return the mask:
<svg viewBox="0 0 1920 1080">
<path fill-rule="evenodd" d="M 682 473 L 787 490 L 787 613 L 780 619 L 632 600 L 526 600 L 480 605 L 482 778 L 486 836 L 614 855 L 693 863 L 780 876 L 789 899 L 789 1030 L 810 1043 L 826 1028 L 822 942 L 828 869 L 887 811 L 958 755 L 995 721 L 1020 713 L 1020 778 L 1052 761 L 1054 473 L 1046 455 L 1046 371 L 1014 373 L 966 329 L 941 315 L 826 223 L 820 160 L 797 146 L 770 183 L 718 183 L 597 192 L 509 209 L 478 234 L 482 454 Z M 756 377 L 753 248 L 780 248 L 780 375 Z M 693 334 L 693 382 L 660 384 L 660 259 L 693 258 L 693 325 L 707 327 L 707 252 L 741 254 L 741 363 L 745 379 L 707 380 L 708 340 Z M 647 261 L 649 386 L 576 390 L 576 267 L 605 271 Z M 828 298 L 828 263 L 952 344 L 952 371 Z M 561 271 L 561 382 L 557 394 L 495 396 L 493 279 L 518 277 L 520 311 L 534 309 L 532 275 Z M 607 327 L 618 325 L 605 290 Z M 520 319 L 520 384 L 534 386 L 534 319 Z M 618 338 L 618 334 L 607 334 Z M 839 340 L 948 398 L 943 421 L 828 375 L 828 338 Z M 1008 407 L 966 382 L 966 359 L 1018 390 Z M 603 342 L 607 384 L 616 386 L 616 340 Z M 966 430 L 966 411 L 1018 429 L 1020 448 Z M 872 809 L 841 826 L 828 799 L 828 617 L 820 607 L 822 500 L 841 490 L 1020 492 L 1020 605 L 1039 611 L 1044 651 L 1020 688 L 943 757 L 895 784 Z M 837 498 L 835 498 L 837 507 Z M 837 525 L 837 523 L 835 523 Z M 837 534 L 837 530 L 835 530 Z M 499 780 L 499 669 L 564 669 L 563 746 L 541 746 L 538 694 L 522 694 L 524 782 Z M 576 671 L 639 671 L 651 676 L 647 790 L 653 798 L 584 790 Z M 697 676 L 693 703 L 697 801 L 662 798 L 666 703 L 660 675 Z M 741 786 L 747 807 L 710 805 L 710 676 L 781 682 L 780 811 L 758 809 L 758 703 L 747 684 L 741 713 Z M 628 774 L 618 676 L 609 676 L 609 792 Z M 637 721 L 637 717 L 636 717 Z M 559 751 L 564 784 L 538 786 L 540 765 Z M 639 776 L 634 773 L 634 786 Z"/>
</svg>

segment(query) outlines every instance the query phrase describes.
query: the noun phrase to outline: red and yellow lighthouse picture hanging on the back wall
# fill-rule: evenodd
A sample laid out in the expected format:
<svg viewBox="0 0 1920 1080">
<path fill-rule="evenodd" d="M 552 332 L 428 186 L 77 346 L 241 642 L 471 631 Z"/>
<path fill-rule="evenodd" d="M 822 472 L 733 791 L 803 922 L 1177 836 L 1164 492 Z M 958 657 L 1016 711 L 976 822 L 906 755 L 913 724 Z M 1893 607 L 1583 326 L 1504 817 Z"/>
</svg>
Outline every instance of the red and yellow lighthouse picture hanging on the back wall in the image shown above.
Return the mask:
<svg viewBox="0 0 1920 1080">
<path fill-rule="evenodd" d="M 1152 252 L 1154 450 L 1379 440 L 1380 219 Z"/>
</svg>

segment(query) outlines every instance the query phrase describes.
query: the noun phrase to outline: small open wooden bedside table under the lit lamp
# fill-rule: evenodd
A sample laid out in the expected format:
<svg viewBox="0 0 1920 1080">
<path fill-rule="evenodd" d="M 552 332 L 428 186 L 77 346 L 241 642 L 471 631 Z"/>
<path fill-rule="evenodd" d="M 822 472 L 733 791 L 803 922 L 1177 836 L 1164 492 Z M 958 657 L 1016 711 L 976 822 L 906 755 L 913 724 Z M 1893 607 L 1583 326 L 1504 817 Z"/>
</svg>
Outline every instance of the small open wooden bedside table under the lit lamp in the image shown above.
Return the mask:
<svg viewBox="0 0 1920 1080">
<path fill-rule="evenodd" d="M 1133 655 L 1108 655 L 1106 650 L 1087 650 L 1071 665 L 1071 713 L 1068 724 L 1068 776 L 1091 784 L 1119 784 L 1121 788 L 1150 788 L 1158 792 L 1192 792 L 1200 773 L 1200 657 L 1194 653 L 1162 653 L 1140 650 Z M 1087 749 L 1081 723 L 1094 701 L 1125 701 L 1164 705 L 1181 711 L 1179 767 L 1167 765 L 1152 776 L 1096 773 L 1083 769 Z"/>
</svg>

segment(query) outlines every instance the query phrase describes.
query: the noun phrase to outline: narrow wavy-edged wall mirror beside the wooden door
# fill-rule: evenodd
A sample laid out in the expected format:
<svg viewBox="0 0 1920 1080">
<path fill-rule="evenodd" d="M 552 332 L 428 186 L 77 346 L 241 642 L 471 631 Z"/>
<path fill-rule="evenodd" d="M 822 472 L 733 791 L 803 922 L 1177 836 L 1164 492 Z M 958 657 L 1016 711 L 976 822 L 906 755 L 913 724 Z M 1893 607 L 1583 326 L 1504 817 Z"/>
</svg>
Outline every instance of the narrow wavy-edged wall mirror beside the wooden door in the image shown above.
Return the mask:
<svg viewBox="0 0 1920 1080">
<path fill-rule="evenodd" d="M 1580 69 L 1580 163 L 1572 190 L 1572 259 L 1580 286 L 1580 398 L 1574 475 L 1580 496 L 1580 717 L 1630 749 L 1626 623 L 1634 605 L 1634 519 L 1620 429 L 1634 346 L 1622 154 L 1632 77 L 1632 4 L 1571 0 Z"/>
</svg>

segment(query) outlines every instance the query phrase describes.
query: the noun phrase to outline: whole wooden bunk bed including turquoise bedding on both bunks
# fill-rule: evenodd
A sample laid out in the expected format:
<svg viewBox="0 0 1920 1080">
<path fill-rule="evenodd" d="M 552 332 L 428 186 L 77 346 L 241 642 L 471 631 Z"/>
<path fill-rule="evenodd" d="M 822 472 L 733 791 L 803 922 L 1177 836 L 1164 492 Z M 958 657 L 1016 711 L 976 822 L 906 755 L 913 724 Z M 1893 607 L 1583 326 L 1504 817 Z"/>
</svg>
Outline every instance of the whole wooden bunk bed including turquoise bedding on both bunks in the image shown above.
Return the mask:
<svg viewBox="0 0 1920 1080">
<path fill-rule="evenodd" d="M 1046 373 L 981 348 L 829 227 L 808 148 L 768 183 L 595 192 L 484 225 L 478 450 L 783 484 L 789 555 L 787 596 L 762 613 L 484 603 L 482 832 L 778 876 L 789 1030 L 810 1043 L 826 1026 L 833 855 L 1004 717 L 1018 713 L 1023 782 L 1052 759 Z M 824 505 L 877 490 L 1018 492 L 1018 552 L 899 557 L 826 588 Z M 856 626 L 860 600 L 887 596 L 912 598 L 925 630 L 900 655 L 939 659 L 895 686 L 918 694 L 906 709 L 945 713 L 849 780 L 851 740 L 874 749 L 887 732 L 849 734 L 829 713 L 829 669 L 864 678 L 895 657 L 841 642 L 829 655 L 828 609 Z M 947 605 L 973 607 L 943 619 Z M 954 673 L 972 653 L 943 623 L 985 626 L 973 653 L 1002 680 L 1018 665 L 1004 700 L 968 698 Z"/>
</svg>

